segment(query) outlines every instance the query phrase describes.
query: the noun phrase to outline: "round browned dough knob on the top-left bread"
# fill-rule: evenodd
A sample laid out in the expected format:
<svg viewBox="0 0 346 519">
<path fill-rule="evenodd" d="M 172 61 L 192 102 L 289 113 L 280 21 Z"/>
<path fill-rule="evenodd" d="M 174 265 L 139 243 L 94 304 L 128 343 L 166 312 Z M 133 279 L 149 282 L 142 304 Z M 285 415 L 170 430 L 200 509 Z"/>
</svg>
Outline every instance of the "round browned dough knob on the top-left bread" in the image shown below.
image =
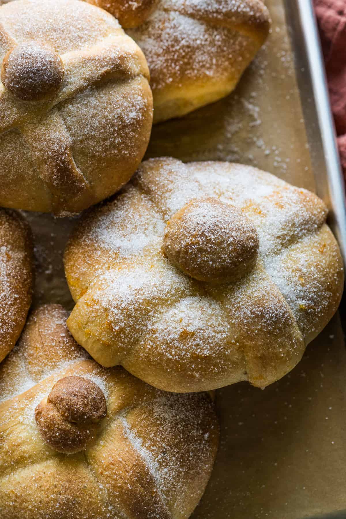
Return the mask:
<svg viewBox="0 0 346 519">
<path fill-rule="evenodd" d="M 4 86 L 25 101 L 38 101 L 57 92 L 63 77 L 59 54 L 38 42 L 21 43 L 8 51 L 1 69 Z"/>
</svg>

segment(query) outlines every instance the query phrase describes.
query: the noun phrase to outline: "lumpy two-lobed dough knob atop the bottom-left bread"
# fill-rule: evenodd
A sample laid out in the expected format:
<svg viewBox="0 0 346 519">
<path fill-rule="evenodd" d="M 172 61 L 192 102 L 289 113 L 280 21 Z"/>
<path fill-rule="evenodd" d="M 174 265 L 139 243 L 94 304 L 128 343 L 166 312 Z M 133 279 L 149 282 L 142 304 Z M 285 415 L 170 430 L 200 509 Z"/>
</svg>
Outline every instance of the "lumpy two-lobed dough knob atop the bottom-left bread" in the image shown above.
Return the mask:
<svg viewBox="0 0 346 519">
<path fill-rule="evenodd" d="M 98 422 L 106 415 L 106 399 L 99 386 L 76 376 L 60 379 L 35 409 L 42 438 L 66 454 L 85 450 L 95 437 Z"/>
</svg>

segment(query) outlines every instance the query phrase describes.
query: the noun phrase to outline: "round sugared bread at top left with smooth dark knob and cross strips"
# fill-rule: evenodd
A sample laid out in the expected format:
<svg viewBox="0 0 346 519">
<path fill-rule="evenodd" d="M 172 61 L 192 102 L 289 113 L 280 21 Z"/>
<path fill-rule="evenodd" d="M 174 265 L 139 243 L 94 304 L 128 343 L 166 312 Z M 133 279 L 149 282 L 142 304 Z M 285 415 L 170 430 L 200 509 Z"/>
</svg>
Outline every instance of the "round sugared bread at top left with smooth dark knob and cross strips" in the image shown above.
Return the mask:
<svg viewBox="0 0 346 519">
<path fill-rule="evenodd" d="M 0 8 L 0 205 L 64 216 L 115 193 L 153 122 L 141 49 L 77 0 Z"/>
</svg>

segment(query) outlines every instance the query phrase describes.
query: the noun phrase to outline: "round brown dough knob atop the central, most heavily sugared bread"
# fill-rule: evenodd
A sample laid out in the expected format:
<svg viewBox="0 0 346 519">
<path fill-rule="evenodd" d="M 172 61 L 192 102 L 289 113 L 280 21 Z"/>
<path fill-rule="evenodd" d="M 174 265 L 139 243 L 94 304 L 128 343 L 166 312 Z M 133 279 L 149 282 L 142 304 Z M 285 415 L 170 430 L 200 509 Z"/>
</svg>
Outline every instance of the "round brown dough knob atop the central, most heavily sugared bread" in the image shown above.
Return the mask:
<svg viewBox="0 0 346 519">
<path fill-rule="evenodd" d="M 163 237 L 173 265 L 208 282 L 240 279 L 253 268 L 258 247 L 251 221 L 217 198 L 191 200 L 167 223 Z"/>
</svg>

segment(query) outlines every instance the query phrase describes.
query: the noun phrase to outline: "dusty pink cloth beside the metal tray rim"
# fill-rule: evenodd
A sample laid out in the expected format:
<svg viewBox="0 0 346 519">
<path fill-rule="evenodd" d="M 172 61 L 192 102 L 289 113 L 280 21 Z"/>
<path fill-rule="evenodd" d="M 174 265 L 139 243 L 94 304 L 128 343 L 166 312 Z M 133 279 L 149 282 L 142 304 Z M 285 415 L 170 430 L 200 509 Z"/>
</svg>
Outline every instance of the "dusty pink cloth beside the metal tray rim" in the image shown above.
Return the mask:
<svg viewBox="0 0 346 519">
<path fill-rule="evenodd" d="M 343 172 L 346 177 L 346 0 L 314 0 Z"/>
</svg>

